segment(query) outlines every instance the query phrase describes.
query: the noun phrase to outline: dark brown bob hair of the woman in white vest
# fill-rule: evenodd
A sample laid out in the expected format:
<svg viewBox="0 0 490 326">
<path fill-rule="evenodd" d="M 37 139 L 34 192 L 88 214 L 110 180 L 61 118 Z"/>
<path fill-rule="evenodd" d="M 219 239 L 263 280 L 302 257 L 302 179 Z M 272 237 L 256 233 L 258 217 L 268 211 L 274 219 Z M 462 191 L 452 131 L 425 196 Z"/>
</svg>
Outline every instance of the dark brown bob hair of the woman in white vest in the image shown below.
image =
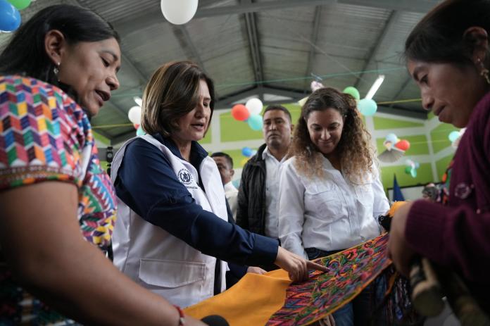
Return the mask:
<svg viewBox="0 0 490 326">
<path fill-rule="evenodd" d="M 195 63 L 172 61 L 158 68 L 144 89 L 142 129 L 164 137 L 178 130 L 177 120 L 199 103 L 200 80 L 206 81 L 211 95 L 211 121 L 215 105 L 213 80 Z"/>
</svg>

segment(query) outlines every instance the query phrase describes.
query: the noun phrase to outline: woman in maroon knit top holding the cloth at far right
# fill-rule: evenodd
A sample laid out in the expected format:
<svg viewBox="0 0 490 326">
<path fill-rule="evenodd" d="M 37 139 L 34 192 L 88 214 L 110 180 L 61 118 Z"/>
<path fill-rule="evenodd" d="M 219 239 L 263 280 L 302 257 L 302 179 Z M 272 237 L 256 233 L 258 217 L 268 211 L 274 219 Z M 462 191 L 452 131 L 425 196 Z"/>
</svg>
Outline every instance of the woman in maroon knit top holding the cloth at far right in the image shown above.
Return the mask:
<svg viewBox="0 0 490 326">
<path fill-rule="evenodd" d="M 394 215 L 389 253 L 408 274 L 420 254 L 463 277 L 488 313 L 490 279 L 490 0 L 449 0 L 406 41 L 422 105 L 467 127 L 454 156 L 446 206 L 414 201 Z"/>
</svg>

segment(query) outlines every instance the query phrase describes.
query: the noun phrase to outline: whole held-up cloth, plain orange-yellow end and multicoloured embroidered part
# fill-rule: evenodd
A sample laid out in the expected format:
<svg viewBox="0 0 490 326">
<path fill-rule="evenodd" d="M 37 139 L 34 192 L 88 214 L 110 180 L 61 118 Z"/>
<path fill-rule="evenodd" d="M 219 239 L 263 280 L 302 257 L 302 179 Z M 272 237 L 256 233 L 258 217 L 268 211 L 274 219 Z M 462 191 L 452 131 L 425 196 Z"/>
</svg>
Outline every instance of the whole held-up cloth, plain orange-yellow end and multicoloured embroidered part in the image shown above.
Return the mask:
<svg viewBox="0 0 490 326">
<path fill-rule="evenodd" d="M 316 260 L 330 272 L 310 271 L 310 280 L 291 284 L 284 270 L 247 273 L 231 289 L 185 311 L 195 318 L 222 315 L 230 325 L 308 325 L 341 308 L 391 261 L 388 235 Z"/>
</svg>

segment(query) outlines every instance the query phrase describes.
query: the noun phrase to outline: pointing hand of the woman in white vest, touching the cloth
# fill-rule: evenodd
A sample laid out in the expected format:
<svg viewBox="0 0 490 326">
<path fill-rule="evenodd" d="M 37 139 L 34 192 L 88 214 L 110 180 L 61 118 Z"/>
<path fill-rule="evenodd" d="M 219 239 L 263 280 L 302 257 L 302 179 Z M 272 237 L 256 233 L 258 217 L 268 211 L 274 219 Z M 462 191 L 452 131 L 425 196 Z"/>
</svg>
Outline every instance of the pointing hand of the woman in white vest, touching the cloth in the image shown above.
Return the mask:
<svg viewBox="0 0 490 326">
<path fill-rule="evenodd" d="M 308 280 L 308 270 L 329 271 L 327 267 L 313 263 L 313 261 L 307 261 L 305 258 L 291 253 L 281 246 L 277 250 L 277 257 L 274 263 L 283 270 L 286 270 L 289 273 L 289 278 L 293 282 Z"/>
</svg>

